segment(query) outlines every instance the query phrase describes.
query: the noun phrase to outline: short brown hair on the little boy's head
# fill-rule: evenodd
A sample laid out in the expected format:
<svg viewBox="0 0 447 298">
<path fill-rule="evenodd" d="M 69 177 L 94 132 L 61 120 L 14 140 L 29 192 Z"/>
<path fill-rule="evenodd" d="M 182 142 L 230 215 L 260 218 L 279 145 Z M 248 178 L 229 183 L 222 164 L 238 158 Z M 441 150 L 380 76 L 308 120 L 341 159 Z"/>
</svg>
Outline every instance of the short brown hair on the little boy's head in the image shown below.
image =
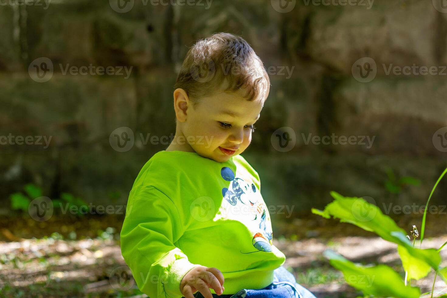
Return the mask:
<svg viewBox="0 0 447 298">
<path fill-rule="evenodd" d="M 183 61 L 174 90 L 182 88 L 193 107 L 201 97 L 220 90 L 245 91 L 248 101 L 261 96 L 265 101 L 270 79 L 261 59 L 244 38 L 229 33 L 216 33 L 198 40 Z"/>
</svg>

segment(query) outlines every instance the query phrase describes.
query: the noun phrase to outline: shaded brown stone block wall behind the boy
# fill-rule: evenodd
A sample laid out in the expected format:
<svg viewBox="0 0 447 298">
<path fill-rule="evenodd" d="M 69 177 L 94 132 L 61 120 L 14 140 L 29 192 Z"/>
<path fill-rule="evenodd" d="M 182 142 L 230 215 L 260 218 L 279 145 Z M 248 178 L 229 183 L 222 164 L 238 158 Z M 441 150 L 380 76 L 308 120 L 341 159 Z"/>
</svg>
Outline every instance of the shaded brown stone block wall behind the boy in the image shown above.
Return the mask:
<svg viewBox="0 0 447 298">
<path fill-rule="evenodd" d="M 244 154 L 261 175 L 268 204 L 292 204 L 305 214 L 329 202 L 330 190 L 423 204 L 447 166 L 447 150 L 434 141 L 437 130 L 447 133 L 447 13 L 436 1 L 283 2 L 292 9 L 274 0 L 123 1 L 130 9 L 113 0 L 12 2 L 0 6 L 0 135 L 52 139 L 47 148 L 0 146 L 6 205 L 29 182 L 49 197 L 69 192 L 95 204 L 110 203 L 108 194 L 119 191 L 125 203 L 139 169 L 166 147 L 144 145 L 139 135 L 175 131 L 173 83 L 188 47 L 221 31 L 244 36 L 272 70 L 270 96 Z M 32 75 L 42 57 L 54 70 L 46 82 Z M 393 68 L 413 64 L 439 74 Z M 132 69 L 128 78 L 64 74 L 67 66 L 89 65 Z M 368 66 L 372 72 L 362 77 Z M 126 152 L 109 143 L 122 126 L 135 134 Z M 287 152 L 272 144 L 282 127 L 296 136 Z M 333 134 L 374 143 L 307 142 Z M 422 185 L 391 194 L 388 169 Z M 440 187 L 434 202 L 446 201 L 447 185 Z"/>
</svg>

